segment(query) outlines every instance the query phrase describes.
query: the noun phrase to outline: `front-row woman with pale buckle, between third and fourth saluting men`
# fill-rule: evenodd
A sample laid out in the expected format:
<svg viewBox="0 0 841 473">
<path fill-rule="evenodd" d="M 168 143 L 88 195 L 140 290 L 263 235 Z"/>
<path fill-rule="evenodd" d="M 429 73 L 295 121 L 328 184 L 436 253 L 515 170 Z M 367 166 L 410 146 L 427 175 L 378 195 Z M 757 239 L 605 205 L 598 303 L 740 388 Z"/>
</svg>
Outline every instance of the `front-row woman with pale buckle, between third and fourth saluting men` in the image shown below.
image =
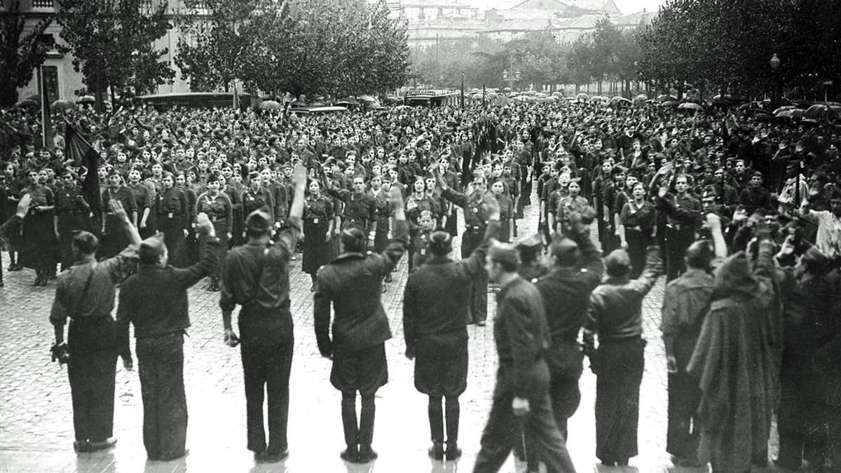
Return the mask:
<svg viewBox="0 0 841 473">
<path fill-rule="evenodd" d="M 321 194 L 320 181 L 309 181 L 309 195 L 304 200 L 304 256 L 301 268 L 312 279 L 310 291 L 315 290 L 318 269 L 330 258 L 330 238 L 336 226 L 334 216 L 332 199 Z"/>
</svg>

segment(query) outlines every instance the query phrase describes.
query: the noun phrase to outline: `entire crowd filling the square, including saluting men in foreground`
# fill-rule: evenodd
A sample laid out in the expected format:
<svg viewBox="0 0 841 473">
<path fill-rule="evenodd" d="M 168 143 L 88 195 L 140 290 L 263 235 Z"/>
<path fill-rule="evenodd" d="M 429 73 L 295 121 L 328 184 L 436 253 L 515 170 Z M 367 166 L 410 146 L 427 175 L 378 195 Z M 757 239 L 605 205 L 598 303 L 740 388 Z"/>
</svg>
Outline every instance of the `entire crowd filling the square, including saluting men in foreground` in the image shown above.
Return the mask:
<svg viewBox="0 0 841 473">
<path fill-rule="evenodd" d="M 529 469 L 572 468 L 563 444 L 584 357 L 598 377 L 595 455 L 627 465 L 637 455 L 641 305 L 665 275 L 664 409 L 675 465 L 764 465 L 775 417 L 779 465 L 841 468 L 836 124 L 584 100 L 321 115 L 77 109 L 54 117 L 55 146 L 41 146 L 34 115 L 10 111 L 0 120 L 6 270 L 34 269 L 36 286 L 58 279 L 56 343 L 68 317 L 80 332 L 85 317 L 108 316 L 113 284 L 124 284 L 117 318 L 135 323 L 141 383 L 148 396 L 182 399 L 182 342 L 163 337 L 188 327 L 186 288 L 207 276 L 206 289 L 221 291 L 225 342 L 242 344 L 248 449 L 258 460 L 287 451 L 288 261 L 299 256 L 312 281 L 318 345 L 342 392 L 342 458 L 376 458 L 373 395 L 388 380 L 382 343 L 391 337 L 379 297 L 402 290 L 391 287 L 392 272 L 405 253 L 406 355 L 430 396 L 434 459 L 461 454 L 466 326 L 486 324 L 490 293 L 500 375 L 476 470 L 498 470 L 511 449 Z M 98 203 L 82 189 L 93 169 L 64 152 L 65 122 L 101 156 Z M 518 231 L 529 206 L 538 235 Z M 451 258 L 453 238 L 460 262 Z M 133 269 L 126 247 L 135 250 Z M 97 260 L 98 270 L 74 269 Z M 100 274 L 104 294 L 96 311 L 77 307 L 95 291 L 85 285 L 96 285 L 90 274 Z M 85 292 L 65 294 L 74 287 Z M 145 306 L 154 287 L 172 292 L 177 321 L 156 322 L 168 302 Z M 230 320 L 236 305 L 241 339 Z M 278 322 L 256 322 L 264 312 Z M 112 397 L 116 356 L 131 357 L 119 338 L 113 356 L 91 362 L 111 366 Z M 71 386 L 80 376 L 71 374 Z M 74 412 L 89 396 L 79 394 L 77 407 L 77 387 Z M 178 399 L 150 418 L 186 431 L 186 417 L 175 423 L 166 413 Z M 522 438 L 512 437 L 517 428 Z M 96 432 L 77 426 L 77 449 L 110 446 L 109 428 Z M 174 447 L 149 435 L 151 459 L 183 454 L 177 433 Z"/>
</svg>

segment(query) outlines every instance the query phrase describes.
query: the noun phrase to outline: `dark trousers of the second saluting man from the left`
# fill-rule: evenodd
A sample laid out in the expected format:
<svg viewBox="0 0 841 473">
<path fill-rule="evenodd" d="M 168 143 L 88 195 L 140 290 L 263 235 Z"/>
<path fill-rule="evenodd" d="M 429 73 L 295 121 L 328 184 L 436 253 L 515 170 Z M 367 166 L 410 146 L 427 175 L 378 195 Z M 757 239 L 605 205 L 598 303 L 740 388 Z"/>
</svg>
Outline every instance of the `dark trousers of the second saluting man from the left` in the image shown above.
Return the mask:
<svg viewBox="0 0 841 473">
<path fill-rule="evenodd" d="M 183 332 L 138 338 L 136 350 L 146 454 L 149 460 L 180 458 L 187 444 Z"/>
</svg>

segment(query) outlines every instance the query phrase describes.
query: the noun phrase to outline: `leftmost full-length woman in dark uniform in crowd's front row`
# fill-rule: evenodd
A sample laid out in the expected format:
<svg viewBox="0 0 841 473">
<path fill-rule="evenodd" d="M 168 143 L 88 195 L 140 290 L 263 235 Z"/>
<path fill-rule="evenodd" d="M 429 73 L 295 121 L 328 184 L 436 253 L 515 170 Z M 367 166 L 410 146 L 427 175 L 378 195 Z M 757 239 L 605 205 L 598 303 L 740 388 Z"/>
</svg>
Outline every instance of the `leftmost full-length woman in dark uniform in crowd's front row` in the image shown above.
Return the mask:
<svg viewBox="0 0 841 473">
<path fill-rule="evenodd" d="M 24 218 L 20 263 L 35 270 L 33 285 L 45 286 L 50 280 L 50 265 L 56 264 L 56 229 L 53 223 L 54 196 L 45 185 L 50 175 L 46 169 L 29 171 L 29 186 L 20 191 L 32 201 Z"/>
</svg>

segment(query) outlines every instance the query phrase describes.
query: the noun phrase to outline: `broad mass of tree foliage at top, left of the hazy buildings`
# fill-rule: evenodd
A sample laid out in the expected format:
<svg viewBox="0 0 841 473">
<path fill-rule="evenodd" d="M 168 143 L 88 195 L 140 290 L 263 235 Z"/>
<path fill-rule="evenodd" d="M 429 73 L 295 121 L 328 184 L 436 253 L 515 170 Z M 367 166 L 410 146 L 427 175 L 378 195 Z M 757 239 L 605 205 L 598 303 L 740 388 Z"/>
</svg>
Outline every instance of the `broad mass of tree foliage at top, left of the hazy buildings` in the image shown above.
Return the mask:
<svg viewBox="0 0 841 473">
<path fill-rule="evenodd" d="M 246 0 L 204 2 L 209 16 L 181 16 L 176 56 L 194 90 L 341 96 L 405 82 L 406 29 L 380 2 Z"/>
</svg>

